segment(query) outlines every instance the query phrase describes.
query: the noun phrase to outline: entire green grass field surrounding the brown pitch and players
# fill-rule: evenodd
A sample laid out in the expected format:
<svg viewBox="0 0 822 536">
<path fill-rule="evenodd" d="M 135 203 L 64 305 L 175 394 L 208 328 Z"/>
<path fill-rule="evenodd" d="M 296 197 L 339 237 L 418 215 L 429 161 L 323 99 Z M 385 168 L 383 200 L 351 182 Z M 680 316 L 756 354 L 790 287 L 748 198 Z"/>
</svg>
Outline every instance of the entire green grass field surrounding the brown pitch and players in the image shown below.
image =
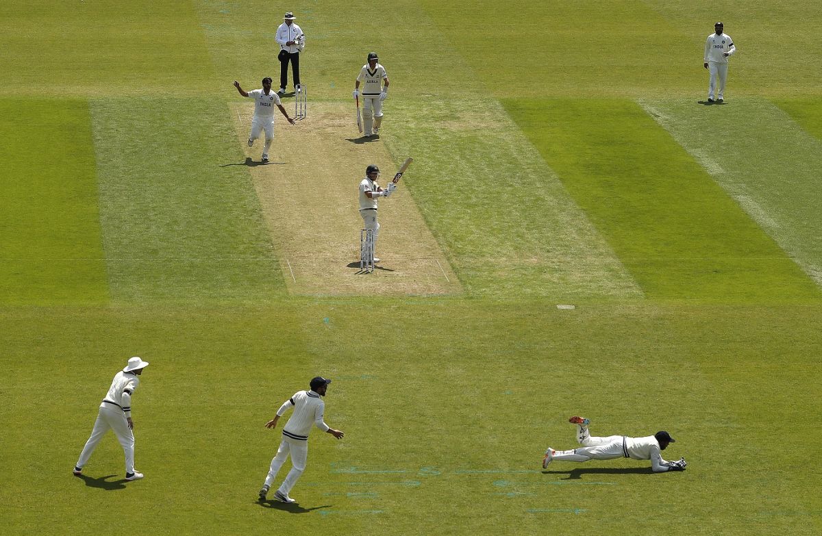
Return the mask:
<svg viewBox="0 0 822 536">
<path fill-rule="evenodd" d="M 225 165 L 243 155 L 231 82 L 276 78 L 286 8 L 314 102 L 349 102 L 380 53 L 381 142 L 417 159 L 407 199 L 463 293 L 289 296 L 289 229 Z M 818 10 L 400 0 L 364 39 L 346 2 L 284 9 L 0 7 L 4 534 L 822 531 Z M 704 106 L 719 19 L 739 53 L 728 104 Z M 295 200 L 311 210 L 321 183 Z M 135 354 L 146 478 L 122 482 L 112 436 L 72 477 Z M 346 437 L 315 432 L 298 506 L 257 503 L 279 441 L 263 425 L 316 374 Z M 543 471 L 571 414 L 667 429 L 688 470 Z"/>
</svg>

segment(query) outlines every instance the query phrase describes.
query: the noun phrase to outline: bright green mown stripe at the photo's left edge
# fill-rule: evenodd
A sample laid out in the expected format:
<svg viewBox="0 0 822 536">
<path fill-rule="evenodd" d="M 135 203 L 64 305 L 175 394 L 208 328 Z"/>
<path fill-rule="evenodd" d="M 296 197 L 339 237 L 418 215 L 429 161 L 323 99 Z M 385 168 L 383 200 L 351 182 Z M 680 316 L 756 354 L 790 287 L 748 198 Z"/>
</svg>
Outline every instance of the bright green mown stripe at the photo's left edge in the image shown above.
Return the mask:
<svg viewBox="0 0 822 536">
<path fill-rule="evenodd" d="M 88 104 L 0 99 L 0 138 L 0 303 L 107 302 Z"/>
</svg>

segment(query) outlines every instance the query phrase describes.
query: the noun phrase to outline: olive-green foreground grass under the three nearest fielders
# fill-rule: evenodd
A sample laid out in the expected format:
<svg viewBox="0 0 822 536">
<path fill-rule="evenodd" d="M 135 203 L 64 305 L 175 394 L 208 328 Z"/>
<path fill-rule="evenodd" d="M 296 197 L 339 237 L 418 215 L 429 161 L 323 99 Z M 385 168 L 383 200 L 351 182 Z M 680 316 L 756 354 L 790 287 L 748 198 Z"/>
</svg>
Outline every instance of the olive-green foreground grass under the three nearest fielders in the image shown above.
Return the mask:
<svg viewBox="0 0 822 536">
<path fill-rule="evenodd" d="M 365 308 L 394 327 L 363 332 Z M 0 514 L 16 534 L 55 523 L 99 534 L 113 523 L 113 506 L 135 501 L 139 534 L 252 532 L 273 521 L 284 530 L 311 524 L 344 534 L 533 534 L 579 519 L 652 534 L 661 521 L 635 515 L 635 504 L 653 504 L 681 520 L 672 534 L 786 526 L 810 534 L 802 526 L 816 522 L 819 499 L 797 490 L 813 487 L 820 471 L 796 471 L 806 451 L 773 438 L 795 432 L 785 415 L 820 395 L 805 373 L 822 348 L 820 313 L 648 303 L 561 312 L 538 301 L 478 299 L 3 310 L 11 327 L 2 365 L 12 372 L 0 379 L 8 497 Z M 133 404 L 137 467 L 146 478 L 110 491 L 90 487 L 69 470 L 110 377 L 132 353 L 151 362 Z M 39 426 L 50 402 L 28 393 L 48 371 L 81 361 L 82 373 L 62 390 L 61 418 Z M 573 381 L 562 372 L 569 369 Z M 292 493 L 301 515 L 258 506 L 279 441 L 262 425 L 316 373 L 335 379 L 326 418 L 346 437 L 313 434 Z M 574 445 L 566 418 L 577 413 L 592 418 L 596 432 L 668 429 L 677 443 L 666 455 L 684 455 L 688 471 L 654 475 L 646 464 L 612 460 L 556 462 L 543 473 L 547 446 Z M 55 434 L 59 452 L 49 442 Z M 757 452 L 755 468 L 744 455 L 716 455 L 738 436 Z M 808 449 L 820 440 L 813 427 L 803 432 Z M 215 457 L 219 471 L 204 471 Z M 109 482 L 122 476 L 113 437 L 85 473 L 115 475 Z M 42 511 L 42 497 L 55 488 L 61 499 Z M 718 504 L 732 515 L 719 515 Z M 559 512 L 538 512 L 549 507 Z"/>
</svg>

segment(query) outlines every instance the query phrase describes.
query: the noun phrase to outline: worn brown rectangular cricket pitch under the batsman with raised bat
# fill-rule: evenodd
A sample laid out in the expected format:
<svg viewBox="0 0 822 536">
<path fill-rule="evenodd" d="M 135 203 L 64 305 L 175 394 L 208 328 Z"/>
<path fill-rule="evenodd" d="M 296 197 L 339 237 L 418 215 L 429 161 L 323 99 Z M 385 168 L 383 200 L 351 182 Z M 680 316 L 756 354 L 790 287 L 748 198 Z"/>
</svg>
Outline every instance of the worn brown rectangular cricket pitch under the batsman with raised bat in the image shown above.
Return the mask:
<svg viewBox="0 0 822 536">
<path fill-rule="evenodd" d="M 293 98 L 284 99 L 293 116 Z M 257 196 L 289 292 L 308 295 L 459 293 L 462 287 L 403 184 L 379 202 L 382 261 L 359 270 L 358 185 L 367 164 L 380 166 L 381 185 L 402 159 L 391 159 L 378 139 L 363 142 L 353 103 L 309 102 L 296 126 L 277 113 L 270 163 L 261 164 L 263 141 L 247 146 L 253 107 L 230 104 Z M 386 125 L 384 125 L 385 127 Z M 409 174 L 413 173 L 413 166 Z"/>
</svg>

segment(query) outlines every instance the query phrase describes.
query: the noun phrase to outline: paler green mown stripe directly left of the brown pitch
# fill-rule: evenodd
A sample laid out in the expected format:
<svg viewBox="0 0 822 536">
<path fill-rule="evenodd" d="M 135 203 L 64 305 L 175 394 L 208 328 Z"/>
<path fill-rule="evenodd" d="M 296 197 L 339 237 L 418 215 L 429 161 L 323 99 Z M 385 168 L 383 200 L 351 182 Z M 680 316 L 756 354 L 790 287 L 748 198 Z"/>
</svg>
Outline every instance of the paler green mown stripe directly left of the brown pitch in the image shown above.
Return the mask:
<svg viewBox="0 0 822 536">
<path fill-rule="evenodd" d="M 252 302 L 283 289 L 224 102 L 95 99 L 113 295 Z"/>
</svg>

